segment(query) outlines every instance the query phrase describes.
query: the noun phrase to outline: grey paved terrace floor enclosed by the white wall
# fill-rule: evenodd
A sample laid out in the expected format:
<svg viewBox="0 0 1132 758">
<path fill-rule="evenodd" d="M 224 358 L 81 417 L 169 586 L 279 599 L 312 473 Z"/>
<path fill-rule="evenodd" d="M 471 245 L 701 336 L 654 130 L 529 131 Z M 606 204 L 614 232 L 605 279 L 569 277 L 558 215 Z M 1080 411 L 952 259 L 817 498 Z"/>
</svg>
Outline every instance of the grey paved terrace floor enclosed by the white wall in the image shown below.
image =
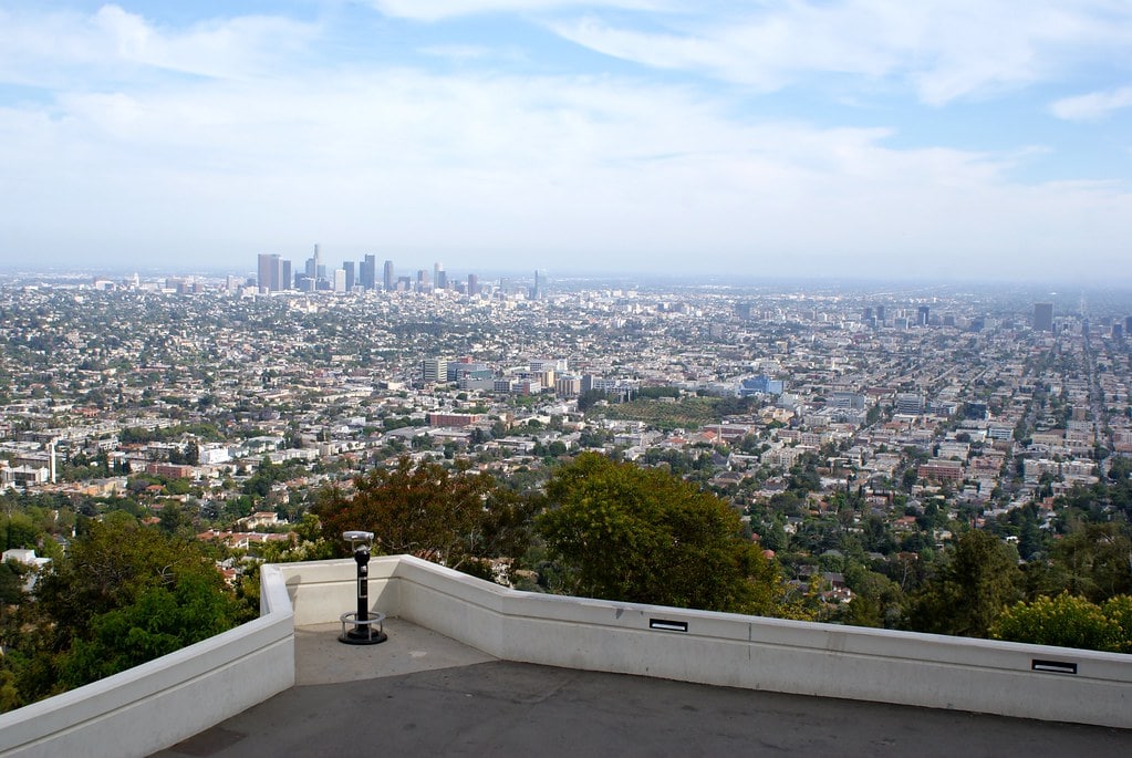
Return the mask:
<svg viewBox="0 0 1132 758">
<path fill-rule="evenodd" d="M 498 661 L 401 619 L 295 630 L 295 687 L 161 758 L 1132 756 L 1132 731 Z"/>
</svg>

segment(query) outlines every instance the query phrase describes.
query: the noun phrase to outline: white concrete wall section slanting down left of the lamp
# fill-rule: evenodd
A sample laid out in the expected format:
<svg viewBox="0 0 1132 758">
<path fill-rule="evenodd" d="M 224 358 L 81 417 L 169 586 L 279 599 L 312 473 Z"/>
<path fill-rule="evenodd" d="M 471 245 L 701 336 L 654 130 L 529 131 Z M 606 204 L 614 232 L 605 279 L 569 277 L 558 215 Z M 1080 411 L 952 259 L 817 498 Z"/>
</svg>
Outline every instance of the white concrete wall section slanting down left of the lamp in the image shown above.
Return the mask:
<svg viewBox="0 0 1132 758">
<path fill-rule="evenodd" d="M 277 569 L 264 577 L 259 619 L 0 715 L 0 756 L 146 756 L 292 687 L 291 603 Z"/>
</svg>

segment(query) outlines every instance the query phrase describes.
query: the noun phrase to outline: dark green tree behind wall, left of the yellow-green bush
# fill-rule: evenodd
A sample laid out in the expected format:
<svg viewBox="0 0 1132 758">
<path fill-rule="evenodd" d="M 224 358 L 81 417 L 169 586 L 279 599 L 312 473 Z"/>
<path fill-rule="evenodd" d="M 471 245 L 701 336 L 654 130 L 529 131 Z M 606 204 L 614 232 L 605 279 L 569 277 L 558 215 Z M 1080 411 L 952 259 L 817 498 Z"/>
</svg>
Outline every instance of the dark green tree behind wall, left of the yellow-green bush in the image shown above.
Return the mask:
<svg viewBox="0 0 1132 758">
<path fill-rule="evenodd" d="M 917 631 L 986 637 L 1009 604 L 1021 598 L 1013 550 L 993 534 L 959 535 L 950 560 L 912 595 L 906 622 Z"/>
</svg>

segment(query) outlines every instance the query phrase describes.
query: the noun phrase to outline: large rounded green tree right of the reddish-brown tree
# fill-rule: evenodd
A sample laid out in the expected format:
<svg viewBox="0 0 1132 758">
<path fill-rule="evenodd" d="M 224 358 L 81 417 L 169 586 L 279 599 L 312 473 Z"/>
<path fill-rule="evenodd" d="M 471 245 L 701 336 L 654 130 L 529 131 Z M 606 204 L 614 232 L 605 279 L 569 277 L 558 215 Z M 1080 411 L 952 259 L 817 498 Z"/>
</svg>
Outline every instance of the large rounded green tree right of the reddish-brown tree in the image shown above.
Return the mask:
<svg viewBox="0 0 1132 758">
<path fill-rule="evenodd" d="M 537 529 L 589 597 L 769 613 L 778 572 L 722 500 L 658 470 L 583 453 L 547 483 Z"/>
</svg>

